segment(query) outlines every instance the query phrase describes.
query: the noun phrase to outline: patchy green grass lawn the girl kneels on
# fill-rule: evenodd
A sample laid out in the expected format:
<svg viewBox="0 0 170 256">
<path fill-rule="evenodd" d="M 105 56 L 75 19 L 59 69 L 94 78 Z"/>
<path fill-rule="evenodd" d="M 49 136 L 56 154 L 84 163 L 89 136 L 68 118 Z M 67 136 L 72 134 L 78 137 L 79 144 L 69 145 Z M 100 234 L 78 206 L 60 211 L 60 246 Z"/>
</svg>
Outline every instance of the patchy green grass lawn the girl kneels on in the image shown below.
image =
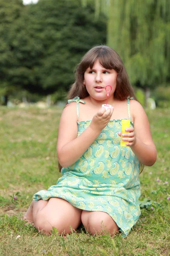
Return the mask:
<svg viewBox="0 0 170 256">
<path fill-rule="evenodd" d="M 158 157 L 140 175 L 142 215 L 127 238 L 90 236 L 83 228 L 67 236 L 56 230 L 45 236 L 24 225 L 34 193 L 60 177 L 56 143 L 61 111 L 0 107 L 0 256 L 170 255 L 170 109 L 147 112 Z"/>
</svg>

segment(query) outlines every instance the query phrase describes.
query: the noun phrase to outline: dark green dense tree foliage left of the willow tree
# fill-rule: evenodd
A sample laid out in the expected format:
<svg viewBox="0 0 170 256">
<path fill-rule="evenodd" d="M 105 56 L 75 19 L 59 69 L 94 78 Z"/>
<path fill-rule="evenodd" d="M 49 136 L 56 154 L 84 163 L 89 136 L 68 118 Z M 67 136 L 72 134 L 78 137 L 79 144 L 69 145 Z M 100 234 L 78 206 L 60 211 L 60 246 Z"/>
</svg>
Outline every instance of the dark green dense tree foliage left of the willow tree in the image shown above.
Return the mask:
<svg viewBox="0 0 170 256">
<path fill-rule="evenodd" d="M 106 42 L 106 18 L 94 13 L 79 0 L 0 0 L 0 95 L 68 90 L 82 55 Z"/>
</svg>

